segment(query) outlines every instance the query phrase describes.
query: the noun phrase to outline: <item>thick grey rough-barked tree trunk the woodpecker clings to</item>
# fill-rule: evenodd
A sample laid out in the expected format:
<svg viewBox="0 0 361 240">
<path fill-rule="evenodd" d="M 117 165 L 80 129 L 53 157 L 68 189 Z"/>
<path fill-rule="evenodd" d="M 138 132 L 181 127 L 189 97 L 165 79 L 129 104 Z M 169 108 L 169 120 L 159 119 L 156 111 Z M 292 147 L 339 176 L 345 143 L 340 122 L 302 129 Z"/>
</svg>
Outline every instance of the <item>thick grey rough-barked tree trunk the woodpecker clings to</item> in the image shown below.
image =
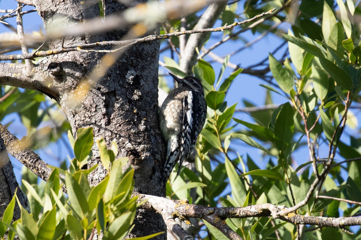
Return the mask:
<svg viewBox="0 0 361 240">
<path fill-rule="evenodd" d="M 33 3 L 47 31 L 55 28 L 59 22 L 71 27 L 81 25 L 88 19 L 100 18 L 98 1 L 34 0 Z M 129 5 L 122 5 L 117 0 L 103 1 L 105 16 L 117 14 L 127 7 Z M 99 35 L 53 39 L 49 41 L 49 49 L 119 40 L 129 28 L 122 27 Z M 149 30 L 145 34 L 154 31 Z M 134 190 L 164 196 L 164 189 L 159 184 L 164 163 L 164 142 L 157 119 L 159 44 L 152 41 L 134 45 L 111 66 L 109 63 L 117 57 L 114 54 L 74 51 L 44 57 L 30 72 L 16 66 L 22 72 L 21 79 L 12 81 L 11 76 L 3 74 L 0 84 L 24 86 L 26 82 L 36 80 L 31 89 L 45 92 L 56 99 L 71 124 L 74 137 L 79 127 L 91 126 L 95 138 L 104 137 L 108 146 L 115 141 L 119 149 L 117 157 L 129 157 L 129 164 L 134 165 Z M 104 71 L 103 67 L 107 65 L 110 67 Z M 93 145 L 92 150 L 93 157 L 88 166 L 100 162 L 97 146 Z M 89 180 L 96 185 L 105 175 L 105 169 L 100 166 Z M 161 215 L 149 210 L 139 210 L 134 223 L 130 237 L 166 230 Z M 163 234 L 155 239 L 165 238 Z"/>
</svg>

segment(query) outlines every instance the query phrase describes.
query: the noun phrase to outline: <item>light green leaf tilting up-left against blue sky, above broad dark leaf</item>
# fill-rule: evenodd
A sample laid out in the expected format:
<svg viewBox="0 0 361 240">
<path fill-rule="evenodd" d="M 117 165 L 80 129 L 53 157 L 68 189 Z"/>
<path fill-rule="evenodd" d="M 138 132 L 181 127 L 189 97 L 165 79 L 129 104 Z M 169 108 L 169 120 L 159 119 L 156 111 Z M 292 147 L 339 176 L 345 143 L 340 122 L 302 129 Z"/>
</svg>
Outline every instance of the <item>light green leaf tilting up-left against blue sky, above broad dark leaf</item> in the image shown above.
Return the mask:
<svg viewBox="0 0 361 240">
<path fill-rule="evenodd" d="M 290 76 L 288 71 L 283 68 L 282 64 L 270 53 L 269 54 L 270 69 L 274 79 L 277 81 L 279 87 L 286 93 L 290 93 L 295 85 L 293 76 Z"/>
</svg>

